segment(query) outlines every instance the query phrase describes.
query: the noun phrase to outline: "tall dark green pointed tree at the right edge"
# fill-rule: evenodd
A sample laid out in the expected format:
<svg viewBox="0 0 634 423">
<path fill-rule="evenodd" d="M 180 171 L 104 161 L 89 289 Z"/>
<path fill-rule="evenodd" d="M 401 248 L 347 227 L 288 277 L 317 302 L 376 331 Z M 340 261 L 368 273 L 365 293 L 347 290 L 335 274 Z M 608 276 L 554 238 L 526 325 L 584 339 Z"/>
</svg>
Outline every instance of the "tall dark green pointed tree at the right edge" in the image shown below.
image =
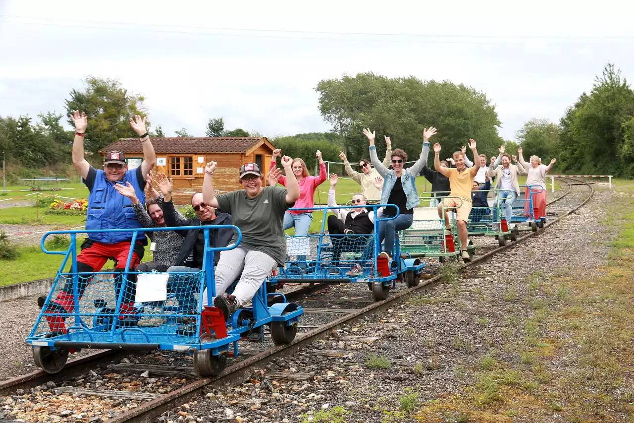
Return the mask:
<svg viewBox="0 0 634 423">
<path fill-rule="evenodd" d="M 621 70 L 605 65 L 589 94 L 561 119 L 562 134 L 557 164 L 567 173 L 609 173 L 631 177 L 634 171 L 632 118 L 634 91 Z M 560 160 L 560 161 L 559 161 Z"/>
</svg>

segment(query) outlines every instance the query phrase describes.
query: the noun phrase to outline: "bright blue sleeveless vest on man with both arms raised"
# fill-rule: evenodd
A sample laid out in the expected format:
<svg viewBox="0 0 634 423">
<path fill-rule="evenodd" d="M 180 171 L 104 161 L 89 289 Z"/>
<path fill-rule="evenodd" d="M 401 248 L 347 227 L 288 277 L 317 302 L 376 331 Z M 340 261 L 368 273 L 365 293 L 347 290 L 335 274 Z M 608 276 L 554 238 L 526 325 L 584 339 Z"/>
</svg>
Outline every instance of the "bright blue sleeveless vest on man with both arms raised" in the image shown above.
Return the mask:
<svg viewBox="0 0 634 423">
<path fill-rule="evenodd" d="M 134 187 L 136 197 L 145 204 L 145 191 L 139 186 L 136 178 L 136 169 L 128 170 L 122 181 L 110 182 L 103 170 L 97 169 L 94 177 L 93 191 L 88 196 L 88 211 L 86 213 L 86 229 L 136 229 L 141 224 L 134 214 L 132 202 L 126 196 L 122 196 L 114 189 L 115 184 L 126 185 L 126 182 Z M 116 244 L 122 241 L 131 241 L 132 232 L 94 232 L 88 234 L 93 241 Z M 136 238 L 143 245 L 147 244 L 145 234 L 140 232 Z"/>
</svg>

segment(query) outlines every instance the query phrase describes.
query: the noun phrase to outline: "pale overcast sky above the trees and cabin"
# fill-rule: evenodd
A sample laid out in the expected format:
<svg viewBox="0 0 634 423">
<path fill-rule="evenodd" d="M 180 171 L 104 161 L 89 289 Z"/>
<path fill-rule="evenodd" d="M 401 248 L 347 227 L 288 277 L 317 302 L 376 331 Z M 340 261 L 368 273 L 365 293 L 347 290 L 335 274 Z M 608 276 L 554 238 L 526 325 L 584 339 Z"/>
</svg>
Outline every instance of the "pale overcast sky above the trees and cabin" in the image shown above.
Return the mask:
<svg viewBox="0 0 634 423">
<path fill-rule="evenodd" d="M 143 95 L 168 137 L 204 137 L 210 117 L 294 135 L 331 129 L 320 80 L 375 72 L 482 91 L 513 139 L 558 122 L 607 62 L 634 79 L 634 4 L 569 4 L 0 0 L 0 116 L 63 113 L 91 75 Z"/>
</svg>

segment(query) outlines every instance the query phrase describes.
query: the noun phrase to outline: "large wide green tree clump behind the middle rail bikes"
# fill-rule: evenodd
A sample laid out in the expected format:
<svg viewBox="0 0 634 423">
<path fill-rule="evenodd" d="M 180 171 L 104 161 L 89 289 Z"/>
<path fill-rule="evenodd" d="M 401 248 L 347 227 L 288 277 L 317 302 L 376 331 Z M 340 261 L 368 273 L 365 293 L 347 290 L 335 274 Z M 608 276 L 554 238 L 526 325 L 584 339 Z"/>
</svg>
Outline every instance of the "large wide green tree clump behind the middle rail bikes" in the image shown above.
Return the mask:
<svg viewBox="0 0 634 423">
<path fill-rule="evenodd" d="M 420 81 L 415 77 L 387 78 L 373 73 L 342 79 L 325 79 L 315 90 L 320 95 L 320 112 L 344 139 L 349 159 L 368 154 L 363 127 L 377 131 L 379 156 L 385 151 L 382 141 L 392 138 L 394 147 L 403 148 L 416 158 L 422 146 L 425 127 L 436 126 L 434 141 L 453 152 L 478 142 L 478 151 L 497 151 L 503 144 L 495 105 L 484 93 L 449 81 Z"/>
</svg>

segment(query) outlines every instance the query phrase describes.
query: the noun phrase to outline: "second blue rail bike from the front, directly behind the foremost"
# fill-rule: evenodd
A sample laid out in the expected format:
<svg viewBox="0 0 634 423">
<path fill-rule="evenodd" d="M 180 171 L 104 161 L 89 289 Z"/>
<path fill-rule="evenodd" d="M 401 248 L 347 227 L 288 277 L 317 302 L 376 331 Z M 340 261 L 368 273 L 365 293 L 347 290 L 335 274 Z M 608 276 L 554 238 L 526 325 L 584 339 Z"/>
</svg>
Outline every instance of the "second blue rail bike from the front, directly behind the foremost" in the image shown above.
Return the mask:
<svg viewBox="0 0 634 423">
<path fill-rule="evenodd" d="M 393 206 L 393 205 L 392 205 Z M 425 266 L 419 258 L 401 252 L 398 233 L 394 237 L 391 262 L 379 256 L 381 246 L 378 225 L 395 217 L 377 217 L 377 210 L 385 205 L 367 205 L 374 215 L 374 230 L 370 234 L 331 235 L 326 233 L 328 211 L 354 208 L 353 206 L 297 208 L 292 210 L 321 211 L 321 230 L 306 236 L 287 236 L 287 262 L 280 267 L 271 283 L 367 283 L 377 301 L 387 299 L 397 281 L 408 287 L 417 286 Z M 393 206 L 395 207 L 395 206 Z M 397 215 L 398 216 L 398 215 Z M 357 270 L 355 270 L 357 269 Z"/>
</svg>

